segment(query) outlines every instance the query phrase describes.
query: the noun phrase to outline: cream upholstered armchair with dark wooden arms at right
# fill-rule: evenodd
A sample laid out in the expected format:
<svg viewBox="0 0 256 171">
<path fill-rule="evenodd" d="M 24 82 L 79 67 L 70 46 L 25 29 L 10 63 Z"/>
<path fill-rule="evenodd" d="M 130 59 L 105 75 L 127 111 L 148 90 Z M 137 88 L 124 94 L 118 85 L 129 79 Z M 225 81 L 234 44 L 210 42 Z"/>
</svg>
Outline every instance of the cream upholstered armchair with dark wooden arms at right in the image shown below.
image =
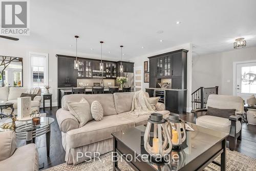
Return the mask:
<svg viewBox="0 0 256 171">
<path fill-rule="evenodd" d="M 191 111 L 194 113 L 194 122 L 196 121 L 196 124 L 209 127 L 213 130 L 229 133 L 227 140 L 229 141 L 229 149 L 233 151 L 236 147 L 237 139 L 241 140 L 242 138 L 242 118 L 244 113 L 243 99 L 238 96 L 211 94 L 208 97 L 206 107 L 236 109 L 235 115 L 231 115 L 228 119 L 205 115 L 207 109 Z"/>
</svg>

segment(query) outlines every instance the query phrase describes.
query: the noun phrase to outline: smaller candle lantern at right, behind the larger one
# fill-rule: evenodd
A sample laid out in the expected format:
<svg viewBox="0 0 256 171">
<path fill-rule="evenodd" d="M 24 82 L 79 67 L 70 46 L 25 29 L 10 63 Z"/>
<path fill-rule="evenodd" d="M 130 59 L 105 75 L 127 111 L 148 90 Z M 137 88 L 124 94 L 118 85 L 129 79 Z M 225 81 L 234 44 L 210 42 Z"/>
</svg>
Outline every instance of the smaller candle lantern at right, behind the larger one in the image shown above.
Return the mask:
<svg viewBox="0 0 256 171">
<path fill-rule="evenodd" d="M 186 125 L 183 120 L 180 119 L 178 114 L 169 114 L 166 119 L 167 129 L 172 137 L 172 144 L 174 149 L 180 149 L 182 142 L 186 140 Z"/>
</svg>

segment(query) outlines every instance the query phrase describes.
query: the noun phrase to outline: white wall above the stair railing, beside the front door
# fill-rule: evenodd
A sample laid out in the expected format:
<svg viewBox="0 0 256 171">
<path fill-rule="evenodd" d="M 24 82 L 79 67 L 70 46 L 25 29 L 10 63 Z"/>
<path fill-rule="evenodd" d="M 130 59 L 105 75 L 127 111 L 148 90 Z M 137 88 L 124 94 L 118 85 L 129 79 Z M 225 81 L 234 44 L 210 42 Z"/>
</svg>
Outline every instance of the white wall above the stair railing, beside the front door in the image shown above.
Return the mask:
<svg viewBox="0 0 256 171">
<path fill-rule="evenodd" d="M 256 60 L 256 47 L 194 56 L 192 90 L 219 86 L 219 94 L 233 94 L 233 62 Z"/>
</svg>

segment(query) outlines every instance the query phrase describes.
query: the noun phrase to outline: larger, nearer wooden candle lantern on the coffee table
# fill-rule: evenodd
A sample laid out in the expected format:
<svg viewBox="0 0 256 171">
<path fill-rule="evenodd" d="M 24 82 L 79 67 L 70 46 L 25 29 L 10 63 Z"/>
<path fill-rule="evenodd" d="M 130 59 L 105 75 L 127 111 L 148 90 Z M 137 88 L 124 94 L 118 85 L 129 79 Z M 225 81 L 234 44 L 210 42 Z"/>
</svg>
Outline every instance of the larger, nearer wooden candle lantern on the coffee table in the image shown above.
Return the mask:
<svg viewBox="0 0 256 171">
<path fill-rule="evenodd" d="M 154 128 L 153 146 L 149 143 L 151 126 Z M 148 118 L 144 134 L 144 148 L 153 157 L 164 157 L 164 155 L 169 154 L 172 150 L 172 139 L 162 114 L 153 113 Z"/>
</svg>

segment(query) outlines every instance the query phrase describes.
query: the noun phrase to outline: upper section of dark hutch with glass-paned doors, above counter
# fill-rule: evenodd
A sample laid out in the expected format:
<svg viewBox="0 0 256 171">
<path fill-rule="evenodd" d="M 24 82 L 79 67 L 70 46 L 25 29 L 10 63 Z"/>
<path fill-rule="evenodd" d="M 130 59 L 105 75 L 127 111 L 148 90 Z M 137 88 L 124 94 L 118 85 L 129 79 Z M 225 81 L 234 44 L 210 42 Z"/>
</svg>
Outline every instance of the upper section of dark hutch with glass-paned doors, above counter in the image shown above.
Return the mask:
<svg viewBox="0 0 256 171">
<path fill-rule="evenodd" d="M 150 88 L 156 88 L 162 78 L 172 79 L 172 89 L 186 89 L 187 50 L 181 49 L 150 59 Z"/>
</svg>

